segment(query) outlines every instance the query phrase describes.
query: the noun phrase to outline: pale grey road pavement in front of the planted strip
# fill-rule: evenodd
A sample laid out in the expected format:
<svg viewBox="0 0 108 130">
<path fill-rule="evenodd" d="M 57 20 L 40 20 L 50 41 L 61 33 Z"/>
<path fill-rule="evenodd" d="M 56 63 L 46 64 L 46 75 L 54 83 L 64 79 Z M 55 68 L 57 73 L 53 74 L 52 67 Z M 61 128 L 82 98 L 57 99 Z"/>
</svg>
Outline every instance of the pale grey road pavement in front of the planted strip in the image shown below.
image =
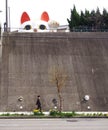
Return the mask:
<svg viewBox="0 0 108 130">
<path fill-rule="evenodd" d="M 108 119 L 0 119 L 0 130 L 108 130 Z"/>
</svg>

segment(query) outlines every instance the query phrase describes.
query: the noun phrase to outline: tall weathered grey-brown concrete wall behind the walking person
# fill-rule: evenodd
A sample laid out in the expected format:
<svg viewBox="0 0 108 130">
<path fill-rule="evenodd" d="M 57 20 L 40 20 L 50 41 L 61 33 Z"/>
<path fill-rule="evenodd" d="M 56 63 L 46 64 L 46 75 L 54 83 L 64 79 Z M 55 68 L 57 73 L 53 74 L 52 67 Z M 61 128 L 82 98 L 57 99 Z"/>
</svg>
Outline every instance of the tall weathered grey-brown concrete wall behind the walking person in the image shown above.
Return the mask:
<svg viewBox="0 0 108 130">
<path fill-rule="evenodd" d="M 0 111 L 35 108 L 41 95 L 43 110 L 58 100 L 49 70 L 59 66 L 68 79 L 62 88 L 63 110 L 108 110 L 108 33 L 4 34 L 0 77 Z M 83 102 L 85 95 L 90 96 Z M 23 96 L 22 102 L 18 98 Z"/>
</svg>

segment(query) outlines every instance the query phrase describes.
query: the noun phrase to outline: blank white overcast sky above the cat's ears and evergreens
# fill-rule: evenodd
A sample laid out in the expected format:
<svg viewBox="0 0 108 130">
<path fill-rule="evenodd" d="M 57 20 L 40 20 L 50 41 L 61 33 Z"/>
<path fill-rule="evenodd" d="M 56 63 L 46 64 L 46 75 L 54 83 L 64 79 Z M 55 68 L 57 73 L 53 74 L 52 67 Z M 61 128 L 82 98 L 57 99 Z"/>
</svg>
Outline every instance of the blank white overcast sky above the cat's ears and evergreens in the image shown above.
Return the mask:
<svg viewBox="0 0 108 130">
<path fill-rule="evenodd" d="M 3 28 L 5 19 L 5 1 L 0 0 L 0 23 Z M 85 9 L 91 11 L 99 7 L 108 10 L 108 0 L 8 0 L 9 25 L 12 29 L 20 28 L 20 18 L 26 11 L 31 20 L 35 22 L 40 19 L 43 11 L 47 11 L 50 20 L 56 20 L 60 25 L 68 24 L 67 18 L 70 18 L 71 9 L 76 6 L 77 11 Z"/>
</svg>

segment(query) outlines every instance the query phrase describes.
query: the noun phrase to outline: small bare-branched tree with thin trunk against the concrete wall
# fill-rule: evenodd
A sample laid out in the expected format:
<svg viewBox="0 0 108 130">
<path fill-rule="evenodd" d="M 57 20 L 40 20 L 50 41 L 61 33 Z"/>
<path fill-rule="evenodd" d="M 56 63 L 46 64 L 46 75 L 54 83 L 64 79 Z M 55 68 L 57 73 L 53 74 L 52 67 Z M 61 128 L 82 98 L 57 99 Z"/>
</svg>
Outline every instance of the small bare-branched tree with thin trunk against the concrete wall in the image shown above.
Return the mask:
<svg viewBox="0 0 108 130">
<path fill-rule="evenodd" d="M 67 75 L 66 72 L 64 71 L 64 69 L 60 68 L 60 67 L 52 67 L 50 69 L 50 81 L 52 83 L 54 83 L 57 87 L 57 93 L 58 93 L 58 98 L 59 98 L 59 111 L 62 111 L 63 108 L 63 100 L 62 100 L 62 87 L 65 86 L 66 83 L 66 79 L 67 79 Z"/>
</svg>

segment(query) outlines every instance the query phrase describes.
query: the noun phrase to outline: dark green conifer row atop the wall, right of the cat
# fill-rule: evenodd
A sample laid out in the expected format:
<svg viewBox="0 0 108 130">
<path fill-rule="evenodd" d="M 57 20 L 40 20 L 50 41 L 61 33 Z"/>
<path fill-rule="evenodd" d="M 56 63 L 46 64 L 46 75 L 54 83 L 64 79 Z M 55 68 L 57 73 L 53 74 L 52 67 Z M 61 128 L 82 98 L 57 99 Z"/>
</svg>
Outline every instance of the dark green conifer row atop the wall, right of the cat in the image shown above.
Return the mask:
<svg viewBox="0 0 108 130">
<path fill-rule="evenodd" d="M 108 12 L 99 8 L 91 12 L 85 10 L 79 14 L 74 6 L 71 10 L 70 19 L 67 19 L 70 31 L 108 31 Z"/>
</svg>

